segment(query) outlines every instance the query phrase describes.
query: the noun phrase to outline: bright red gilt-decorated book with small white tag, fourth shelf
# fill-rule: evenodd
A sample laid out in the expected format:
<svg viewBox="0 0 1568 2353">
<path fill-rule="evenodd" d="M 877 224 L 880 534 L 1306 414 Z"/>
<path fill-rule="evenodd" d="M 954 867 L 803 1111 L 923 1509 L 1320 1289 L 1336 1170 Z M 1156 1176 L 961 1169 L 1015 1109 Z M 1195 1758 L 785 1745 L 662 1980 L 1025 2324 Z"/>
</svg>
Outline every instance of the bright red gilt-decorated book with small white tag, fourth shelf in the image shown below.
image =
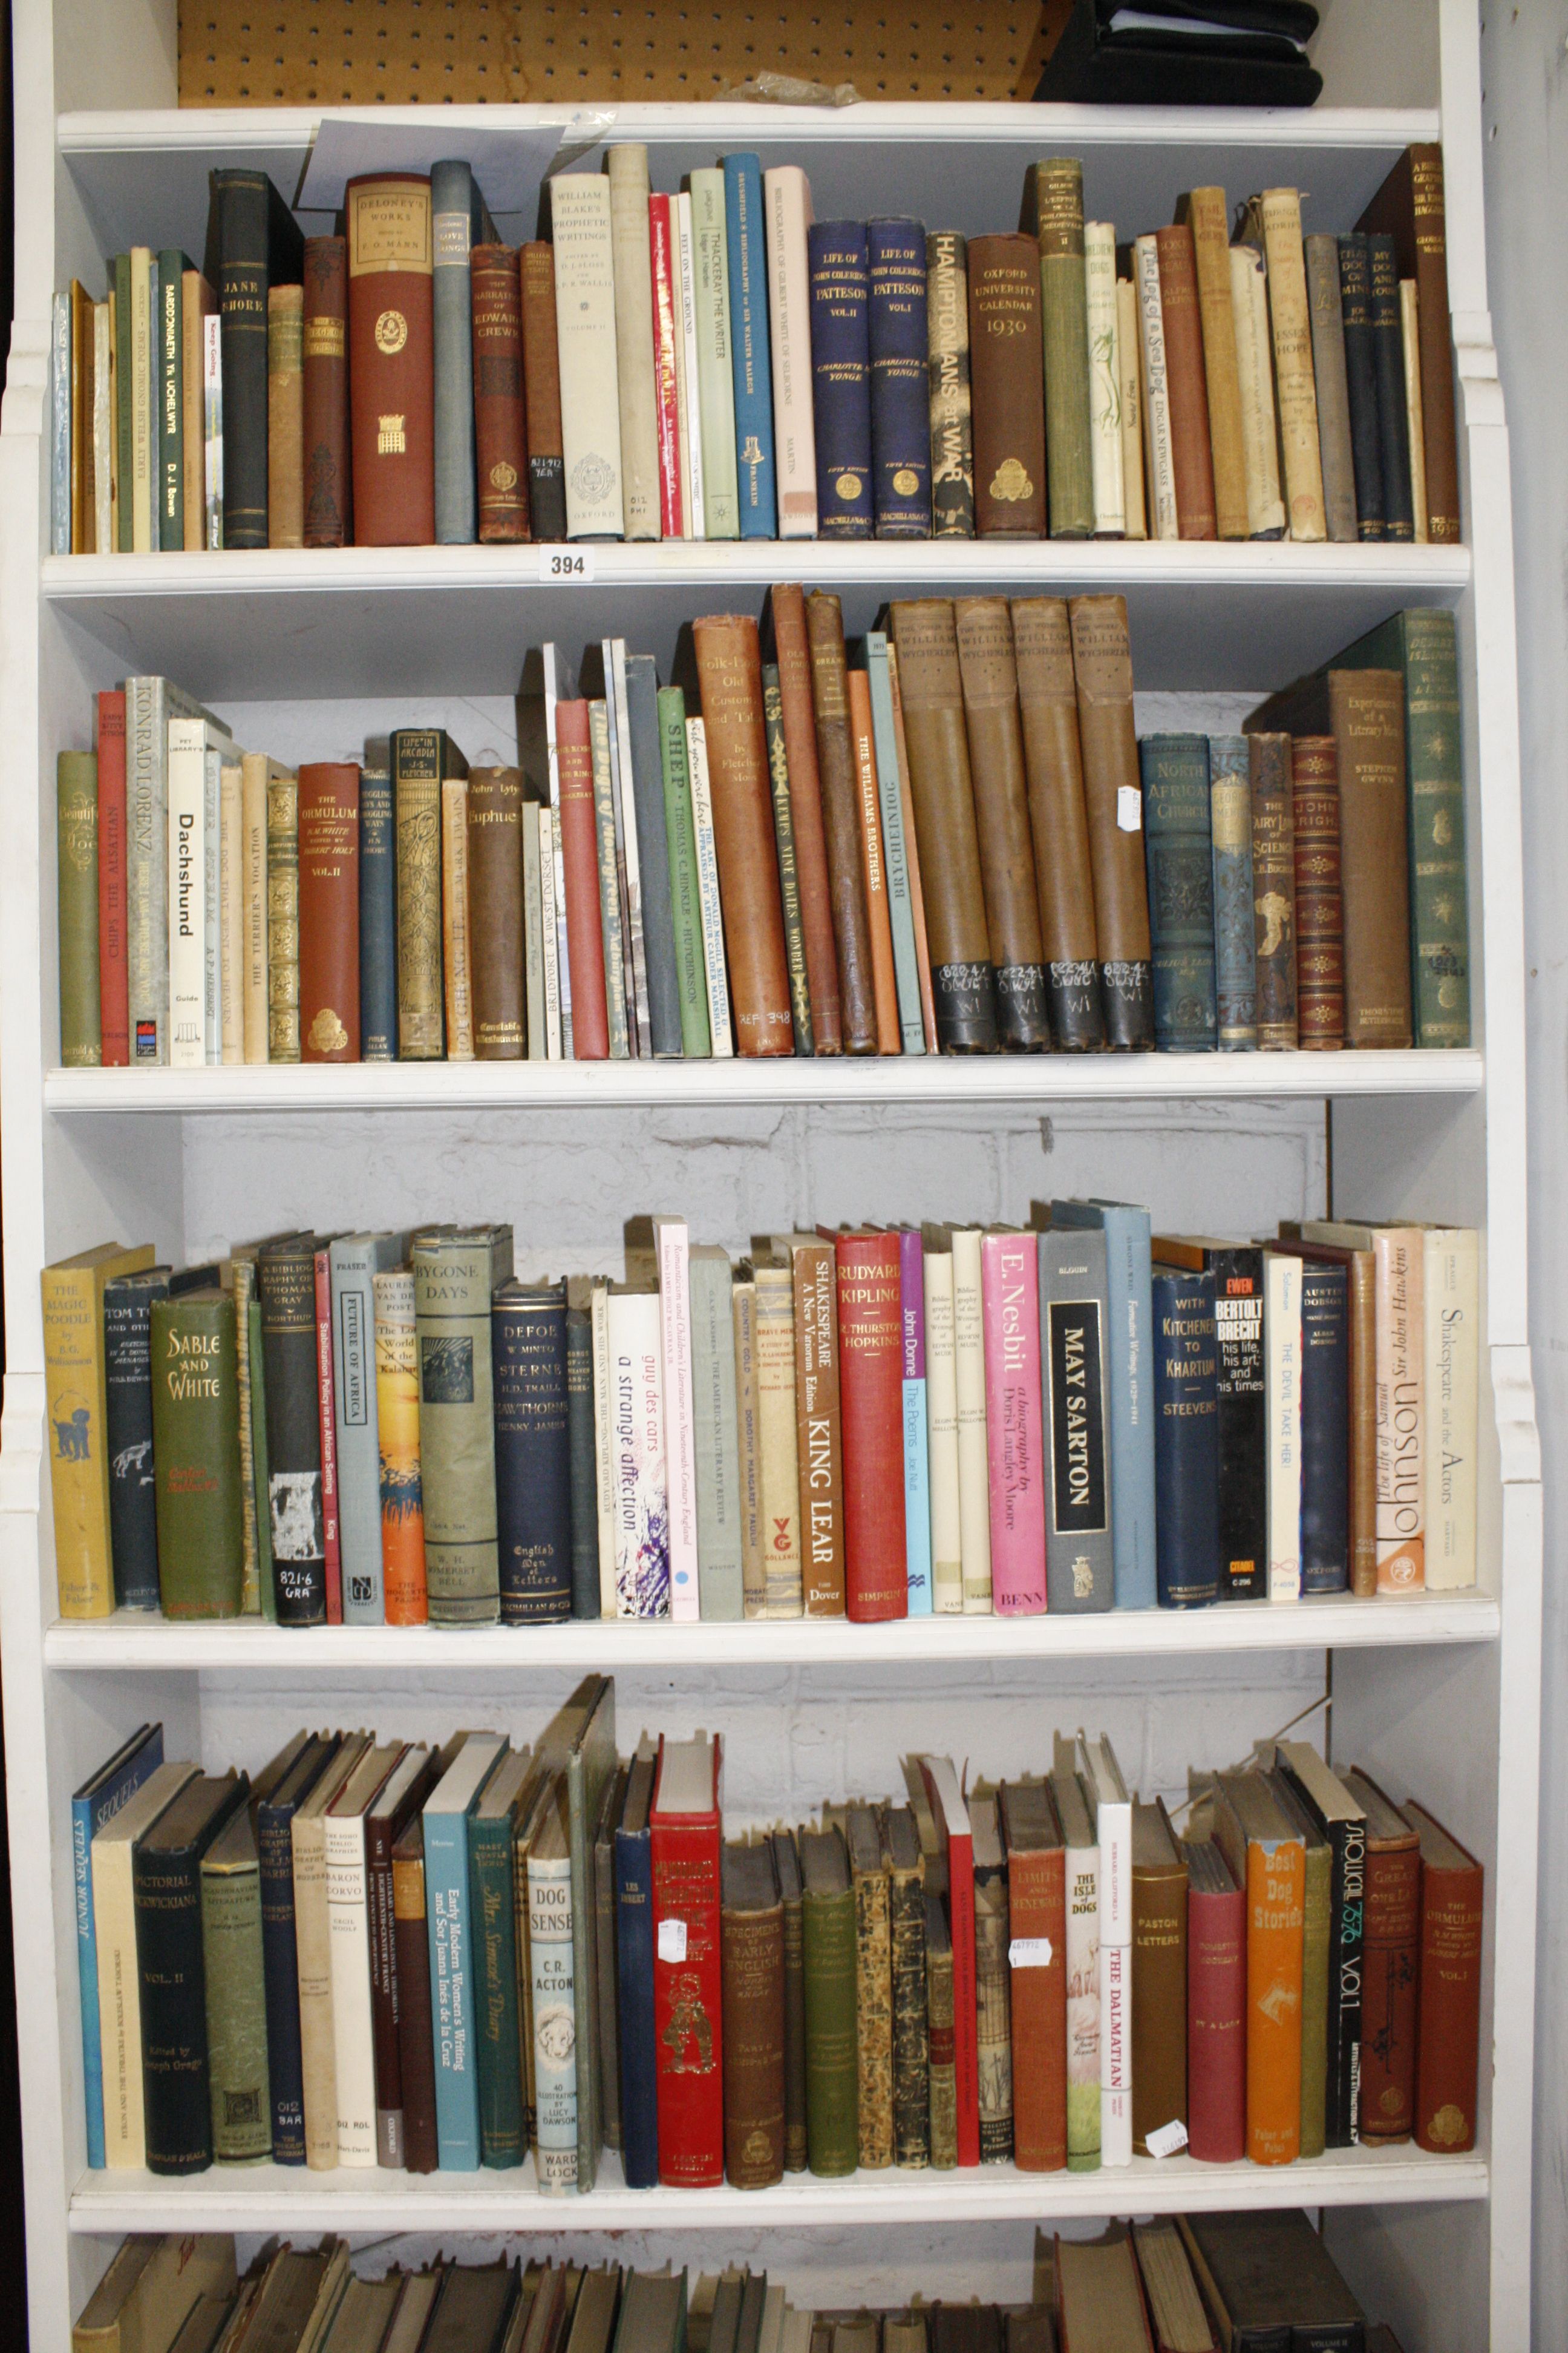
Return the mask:
<svg viewBox="0 0 1568 2353">
<path fill-rule="evenodd" d="M 717 1805 L 712 1814 L 670 1817 L 661 1817 L 656 1807 L 649 1817 L 649 1849 L 658 2179 L 668 2188 L 717 2191 L 724 2181 Z"/>
</svg>

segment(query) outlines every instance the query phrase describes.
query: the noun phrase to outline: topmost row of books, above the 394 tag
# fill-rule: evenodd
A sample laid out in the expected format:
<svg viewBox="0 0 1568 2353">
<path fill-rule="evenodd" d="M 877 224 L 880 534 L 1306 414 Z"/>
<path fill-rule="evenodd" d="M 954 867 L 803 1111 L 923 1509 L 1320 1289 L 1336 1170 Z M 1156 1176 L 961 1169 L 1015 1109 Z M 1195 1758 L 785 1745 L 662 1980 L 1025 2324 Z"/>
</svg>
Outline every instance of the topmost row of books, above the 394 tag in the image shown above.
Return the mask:
<svg viewBox="0 0 1568 2353">
<path fill-rule="evenodd" d="M 522 249 L 465 162 L 308 240 L 263 172 L 212 186 L 205 273 L 132 247 L 56 294 L 56 553 L 1460 536 L 1439 146 L 1349 235 L 1267 188 L 1232 242 L 1211 186 L 1124 247 L 1070 155 L 969 240 L 816 221 L 757 155 L 651 193 L 637 141 Z"/>
</svg>

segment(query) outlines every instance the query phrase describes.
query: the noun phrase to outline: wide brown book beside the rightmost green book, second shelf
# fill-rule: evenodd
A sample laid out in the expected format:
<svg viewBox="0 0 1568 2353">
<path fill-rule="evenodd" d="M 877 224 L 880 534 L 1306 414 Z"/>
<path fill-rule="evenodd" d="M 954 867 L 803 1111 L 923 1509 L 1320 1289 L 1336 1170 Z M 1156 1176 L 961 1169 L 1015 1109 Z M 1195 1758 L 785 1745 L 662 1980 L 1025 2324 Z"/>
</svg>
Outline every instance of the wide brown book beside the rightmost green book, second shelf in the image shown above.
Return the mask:
<svg viewBox="0 0 1568 2353">
<path fill-rule="evenodd" d="M 1331 671 L 1340 746 L 1345 1042 L 1403 1047 L 1410 1028 L 1406 704 L 1399 671 Z"/>
</svg>

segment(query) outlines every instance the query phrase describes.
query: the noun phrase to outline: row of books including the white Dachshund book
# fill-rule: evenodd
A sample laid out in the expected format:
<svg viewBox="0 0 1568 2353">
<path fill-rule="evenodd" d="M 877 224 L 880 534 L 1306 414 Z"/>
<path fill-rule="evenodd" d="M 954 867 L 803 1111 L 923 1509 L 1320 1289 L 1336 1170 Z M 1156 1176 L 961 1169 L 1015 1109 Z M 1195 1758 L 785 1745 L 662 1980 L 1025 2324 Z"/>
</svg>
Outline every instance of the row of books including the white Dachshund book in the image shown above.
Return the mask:
<svg viewBox="0 0 1568 2353">
<path fill-rule="evenodd" d="M 1450 612 L 1143 741 L 1119 595 L 884 621 L 545 645 L 520 765 L 294 774 L 129 678 L 59 755 L 63 1064 L 1469 1045 Z"/>
</svg>

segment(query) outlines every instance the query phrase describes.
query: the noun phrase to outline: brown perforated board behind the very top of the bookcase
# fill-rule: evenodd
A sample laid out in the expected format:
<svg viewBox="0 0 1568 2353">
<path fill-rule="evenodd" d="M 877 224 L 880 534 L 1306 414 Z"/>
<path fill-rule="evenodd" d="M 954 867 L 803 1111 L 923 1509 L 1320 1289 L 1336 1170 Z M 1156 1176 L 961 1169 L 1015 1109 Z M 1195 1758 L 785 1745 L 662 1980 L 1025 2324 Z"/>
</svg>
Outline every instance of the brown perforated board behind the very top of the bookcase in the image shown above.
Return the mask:
<svg viewBox="0 0 1568 2353">
<path fill-rule="evenodd" d="M 1039 0 L 181 0 L 179 101 L 679 104 L 757 73 L 1027 99 L 1039 26 Z"/>
</svg>

